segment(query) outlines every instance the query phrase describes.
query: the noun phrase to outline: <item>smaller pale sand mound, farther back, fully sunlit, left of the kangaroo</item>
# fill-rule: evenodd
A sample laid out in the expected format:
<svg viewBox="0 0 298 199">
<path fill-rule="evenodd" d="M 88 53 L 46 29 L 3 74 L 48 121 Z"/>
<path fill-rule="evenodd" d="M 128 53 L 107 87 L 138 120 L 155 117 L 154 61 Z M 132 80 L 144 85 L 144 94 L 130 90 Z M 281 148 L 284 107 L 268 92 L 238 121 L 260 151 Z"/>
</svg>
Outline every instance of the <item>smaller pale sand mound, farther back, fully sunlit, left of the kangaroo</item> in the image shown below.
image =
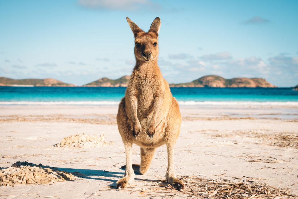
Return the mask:
<svg viewBox="0 0 298 199">
<path fill-rule="evenodd" d="M 87 135 L 85 133 L 78 133 L 65 137 L 61 142 L 55 144 L 55 147 L 68 147 L 68 148 L 94 148 L 97 146 L 106 146 L 113 144 L 113 142 L 104 141 L 105 135 Z"/>
</svg>

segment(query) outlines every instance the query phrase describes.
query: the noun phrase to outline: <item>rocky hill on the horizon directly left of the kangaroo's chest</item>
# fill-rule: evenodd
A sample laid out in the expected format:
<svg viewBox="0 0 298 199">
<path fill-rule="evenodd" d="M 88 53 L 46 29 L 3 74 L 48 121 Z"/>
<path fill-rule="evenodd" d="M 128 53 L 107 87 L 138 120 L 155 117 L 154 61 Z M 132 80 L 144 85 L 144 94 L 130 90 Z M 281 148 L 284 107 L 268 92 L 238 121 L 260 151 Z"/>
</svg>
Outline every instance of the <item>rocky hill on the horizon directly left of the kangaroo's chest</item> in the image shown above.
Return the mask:
<svg viewBox="0 0 298 199">
<path fill-rule="evenodd" d="M 107 77 L 98 79 L 94 82 L 91 82 L 89 84 L 85 84 L 83 86 L 87 87 L 127 87 L 129 82 L 130 76 L 126 75 L 123 77 L 120 77 L 119 79 L 109 79 Z"/>
</svg>

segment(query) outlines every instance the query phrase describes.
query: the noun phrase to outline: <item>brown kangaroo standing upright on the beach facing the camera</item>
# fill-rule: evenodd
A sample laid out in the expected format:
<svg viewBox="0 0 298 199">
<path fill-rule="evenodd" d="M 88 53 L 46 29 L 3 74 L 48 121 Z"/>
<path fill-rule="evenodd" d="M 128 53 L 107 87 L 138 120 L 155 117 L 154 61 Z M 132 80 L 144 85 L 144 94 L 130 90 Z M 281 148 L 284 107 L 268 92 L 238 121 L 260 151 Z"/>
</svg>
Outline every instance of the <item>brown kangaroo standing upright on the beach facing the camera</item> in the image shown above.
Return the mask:
<svg viewBox="0 0 298 199">
<path fill-rule="evenodd" d="M 133 182 L 134 172 L 145 174 L 156 148 L 166 144 L 168 169 L 165 177 L 168 183 L 180 191 L 184 189 L 184 184 L 176 178 L 173 154 L 180 132 L 181 114 L 178 102 L 157 65 L 160 18 L 153 20 L 148 32 L 144 32 L 128 17 L 126 20 L 135 38 L 136 65 L 117 113 L 118 129 L 126 155 L 126 165 L 122 166 L 125 174 L 117 181 L 117 188 L 123 189 Z M 132 164 L 133 143 L 141 147 L 140 165 Z"/>
</svg>

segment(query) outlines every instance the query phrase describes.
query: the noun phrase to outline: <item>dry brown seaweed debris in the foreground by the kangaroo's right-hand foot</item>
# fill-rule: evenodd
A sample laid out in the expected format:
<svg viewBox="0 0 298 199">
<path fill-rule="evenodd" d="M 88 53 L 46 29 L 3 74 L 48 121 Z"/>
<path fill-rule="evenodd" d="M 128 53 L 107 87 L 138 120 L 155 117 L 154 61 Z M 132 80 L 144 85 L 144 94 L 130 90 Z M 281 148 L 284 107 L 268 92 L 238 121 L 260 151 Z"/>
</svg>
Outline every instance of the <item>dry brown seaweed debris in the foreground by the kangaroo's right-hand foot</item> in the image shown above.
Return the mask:
<svg viewBox="0 0 298 199">
<path fill-rule="evenodd" d="M 252 180 L 246 182 L 232 182 L 227 179 L 206 179 L 197 176 L 180 176 L 184 181 L 185 189 L 178 192 L 166 183 L 166 180 L 155 181 L 159 188 L 146 189 L 138 194 L 144 194 L 151 198 L 160 196 L 185 198 L 296 198 L 289 189 L 279 189 L 267 184 L 255 183 Z M 155 186 L 154 186 L 155 187 Z M 163 188 L 160 188 L 163 187 Z M 170 195 L 168 195 L 170 194 Z"/>
</svg>

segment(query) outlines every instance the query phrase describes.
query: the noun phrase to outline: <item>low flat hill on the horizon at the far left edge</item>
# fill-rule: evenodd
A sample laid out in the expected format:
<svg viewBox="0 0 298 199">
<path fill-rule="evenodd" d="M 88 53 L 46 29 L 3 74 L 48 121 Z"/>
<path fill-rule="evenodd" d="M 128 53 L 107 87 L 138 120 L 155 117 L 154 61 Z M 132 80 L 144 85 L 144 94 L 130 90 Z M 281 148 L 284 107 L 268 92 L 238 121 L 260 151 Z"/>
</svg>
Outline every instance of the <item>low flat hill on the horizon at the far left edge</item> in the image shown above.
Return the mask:
<svg viewBox="0 0 298 199">
<path fill-rule="evenodd" d="M 63 86 L 73 87 L 74 84 L 66 84 L 57 79 L 10 79 L 0 77 L 0 86 Z"/>
</svg>

